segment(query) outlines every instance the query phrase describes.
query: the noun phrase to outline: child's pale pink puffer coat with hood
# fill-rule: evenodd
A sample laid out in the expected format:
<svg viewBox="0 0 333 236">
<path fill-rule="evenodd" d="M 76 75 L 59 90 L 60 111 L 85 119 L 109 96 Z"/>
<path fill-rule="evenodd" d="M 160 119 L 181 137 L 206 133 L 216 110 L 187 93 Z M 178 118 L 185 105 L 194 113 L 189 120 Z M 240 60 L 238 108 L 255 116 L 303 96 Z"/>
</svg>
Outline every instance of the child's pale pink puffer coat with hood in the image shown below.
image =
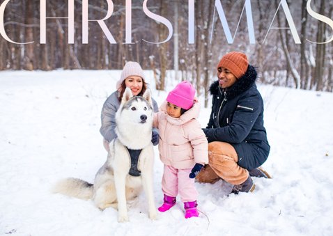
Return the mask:
<svg viewBox="0 0 333 236">
<path fill-rule="evenodd" d="M 166 113 L 164 102 L 160 111 L 154 114 L 153 126 L 160 131 L 160 159 L 163 164 L 174 168 L 192 168 L 194 164 L 208 164 L 208 141 L 196 118 L 199 116 L 199 102 L 173 118 Z"/>
</svg>

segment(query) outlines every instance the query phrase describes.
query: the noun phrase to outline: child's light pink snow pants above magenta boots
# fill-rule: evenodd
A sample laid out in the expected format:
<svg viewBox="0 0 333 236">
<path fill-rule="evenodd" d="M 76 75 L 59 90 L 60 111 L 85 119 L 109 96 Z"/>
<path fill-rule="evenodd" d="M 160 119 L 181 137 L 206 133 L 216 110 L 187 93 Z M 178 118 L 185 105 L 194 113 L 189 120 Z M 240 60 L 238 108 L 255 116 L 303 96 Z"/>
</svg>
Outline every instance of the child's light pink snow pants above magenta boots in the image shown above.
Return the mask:
<svg viewBox="0 0 333 236">
<path fill-rule="evenodd" d="M 167 196 L 176 197 L 178 194 L 183 203 L 196 200 L 198 191 L 194 186 L 194 178 L 189 178 L 192 168 L 178 169 L 164 165 L 162 191 Z"/>
</svg>

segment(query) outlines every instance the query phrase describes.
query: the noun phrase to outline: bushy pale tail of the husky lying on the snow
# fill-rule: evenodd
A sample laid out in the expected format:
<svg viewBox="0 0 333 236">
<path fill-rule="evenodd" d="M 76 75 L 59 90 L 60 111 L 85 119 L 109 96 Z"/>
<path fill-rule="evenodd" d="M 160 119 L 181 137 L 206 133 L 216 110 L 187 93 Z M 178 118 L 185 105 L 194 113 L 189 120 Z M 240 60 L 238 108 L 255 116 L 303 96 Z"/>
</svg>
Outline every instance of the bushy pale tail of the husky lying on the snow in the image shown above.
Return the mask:
<svg viewBox="0 0 333 236">
<path fill-rule="evenodd" d="M 77 178 L 66 178 L 57 182 L 52 192 L 88 200 L 93 197 L 93 184 Z"/>
</svg>

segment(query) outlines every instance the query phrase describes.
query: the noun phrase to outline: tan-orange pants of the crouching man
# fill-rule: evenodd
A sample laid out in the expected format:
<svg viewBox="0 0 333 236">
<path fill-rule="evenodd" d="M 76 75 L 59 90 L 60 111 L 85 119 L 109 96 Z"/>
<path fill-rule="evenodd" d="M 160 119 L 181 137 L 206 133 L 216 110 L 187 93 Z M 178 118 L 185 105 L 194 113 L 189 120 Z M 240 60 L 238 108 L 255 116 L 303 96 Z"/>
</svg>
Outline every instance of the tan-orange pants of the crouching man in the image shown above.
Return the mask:
<svg viewBox="0 0 333 236">
<path fill-rule="evenodd" d="M 209 163 L 196 176 L 198 182 L 214 183 L 220 178 L 231 184 L 242 184 L 247 180 L 249 172 L 238 166 L 238 155 L 229 143 L 208 143 Z"/>
</svg>

